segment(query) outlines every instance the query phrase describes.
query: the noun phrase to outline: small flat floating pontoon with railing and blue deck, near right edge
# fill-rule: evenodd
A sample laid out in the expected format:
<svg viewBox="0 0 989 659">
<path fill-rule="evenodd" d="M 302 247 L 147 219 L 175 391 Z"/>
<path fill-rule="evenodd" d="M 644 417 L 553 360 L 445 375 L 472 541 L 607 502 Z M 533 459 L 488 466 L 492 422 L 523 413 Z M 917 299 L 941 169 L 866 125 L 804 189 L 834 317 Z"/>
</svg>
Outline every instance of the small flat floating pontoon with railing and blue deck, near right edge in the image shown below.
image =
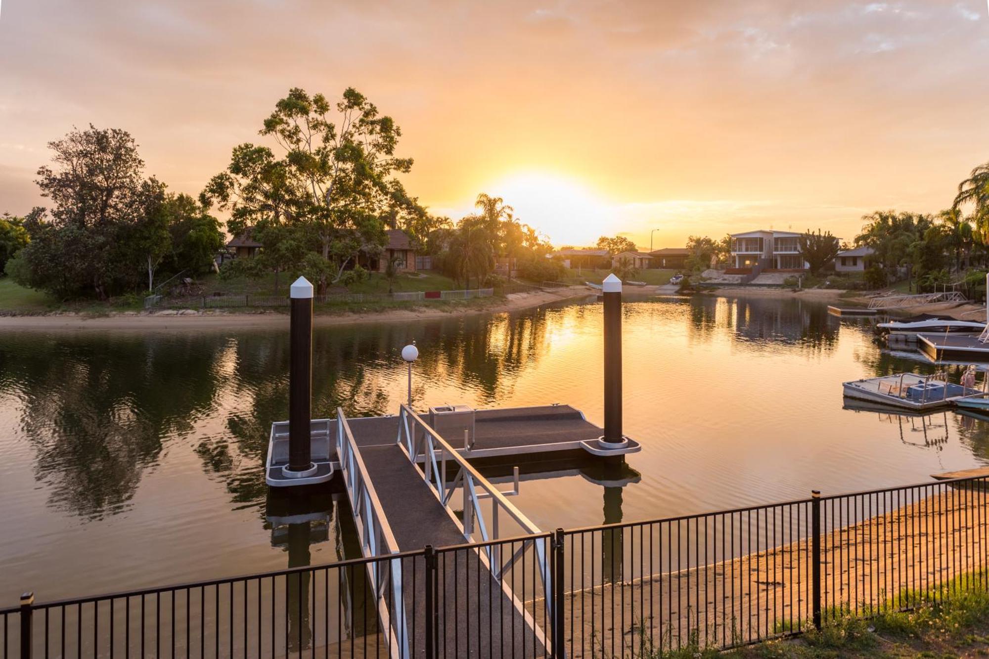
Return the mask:
<svg viewBox="0 0 989 659">
<path fill-rule="evenodd" d="M 845 395 L 903 410 L 936 410 L 961 401 L 983 399 L 984 391 L 947 381 L 944 373 L 897 373 L 843 383 Z"/>
</svg>

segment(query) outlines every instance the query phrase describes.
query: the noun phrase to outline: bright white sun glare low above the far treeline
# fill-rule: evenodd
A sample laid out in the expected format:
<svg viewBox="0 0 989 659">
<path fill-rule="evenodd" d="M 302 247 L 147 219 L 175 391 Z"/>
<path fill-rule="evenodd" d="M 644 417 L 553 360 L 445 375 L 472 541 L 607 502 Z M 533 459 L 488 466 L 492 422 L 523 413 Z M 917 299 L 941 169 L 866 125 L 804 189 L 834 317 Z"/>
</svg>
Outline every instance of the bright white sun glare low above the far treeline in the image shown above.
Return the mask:
<svg viewBox="0 0 989 659">
<path fill-rule="evenodd" d="M 612 211 L 588 186 L 547 172 L 518 172 L 486 188 L 504 199 L 523 223 L 556 245 L 588 244 L 606 234 Z"/>
</svg>

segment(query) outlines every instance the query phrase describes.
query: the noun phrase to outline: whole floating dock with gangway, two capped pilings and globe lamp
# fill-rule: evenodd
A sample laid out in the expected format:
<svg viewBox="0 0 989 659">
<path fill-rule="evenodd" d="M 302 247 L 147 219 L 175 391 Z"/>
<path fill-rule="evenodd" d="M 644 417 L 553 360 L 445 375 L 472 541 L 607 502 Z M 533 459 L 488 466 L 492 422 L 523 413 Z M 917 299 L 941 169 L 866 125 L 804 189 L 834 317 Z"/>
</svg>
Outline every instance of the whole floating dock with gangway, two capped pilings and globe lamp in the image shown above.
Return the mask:
<svg viewBox="0 0 989 659">
<path fill-rule="evenodd" d="M 292 285 L 289 421 L 272 424 L 266 481 L 300 495 L 342 481 L 361 554 L 386 561 L 367 563 L 367 583 L 391 657 L 416 656 L 417 648 L 426 648 L 428 656 L 556 654 L 547 634 L 546 618 L 553 612 L 544 607 L 537 619 L 524 603 L 550 592 L 559 566 L 550 563 L 547 533 L 509 497 L 518 494 L 520 462 L 581 457 L 620 463 L 641 449 L 622 433 L 621 281 L 609 275 L 601 290 L 603 427 L 567 405 L 499 410 L 439 405 L 416 412 L 410 404 L 414 345 L 403 348 L 409 403 L 397 415 L 347 419 L 338 408 L 335 419 L 312 420 L 313 287 L 303 278 Z M 480 463 L 513 465 L 514 489 L 499 490 L 479 471 Z M 494 543 L 505 537 L 521 539 L 510 547 Z M 435 591 L 429 598 L 455 603 L 457 611 L 427 630 L 426 585 L 415 580 L 416 570 L 405 564 L 403 552 L 465 542 L 470 543 L 466 551 L 456 554 L 466 556 L 463 560 L 447 561 L 446 554 L 434 559 Z M 378 567 L 382 564 L 388 569 Z M 490 621 L 492 633 L 465 633 L 481 618 Z M 443 649 L 436 652 L 433 642 Z"/>
</svg>

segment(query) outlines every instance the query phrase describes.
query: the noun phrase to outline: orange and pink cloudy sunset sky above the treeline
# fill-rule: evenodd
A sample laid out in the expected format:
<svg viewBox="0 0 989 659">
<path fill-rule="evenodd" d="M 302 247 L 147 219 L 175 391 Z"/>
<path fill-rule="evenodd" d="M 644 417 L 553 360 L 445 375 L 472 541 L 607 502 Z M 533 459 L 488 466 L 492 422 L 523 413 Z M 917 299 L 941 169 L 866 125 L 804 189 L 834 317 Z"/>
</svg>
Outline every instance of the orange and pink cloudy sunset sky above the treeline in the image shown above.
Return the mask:
<svg viewBox="0 0 989 659">
<path fill-rule="evenodd" d="M 198 193 L 290 87 L 366 94 L 409 192 L 557 244 L 937 212 L 989 160 L 986 0 L 2 0 L 0 213 L 45 143 L 117 127 Z"/>
</svg>

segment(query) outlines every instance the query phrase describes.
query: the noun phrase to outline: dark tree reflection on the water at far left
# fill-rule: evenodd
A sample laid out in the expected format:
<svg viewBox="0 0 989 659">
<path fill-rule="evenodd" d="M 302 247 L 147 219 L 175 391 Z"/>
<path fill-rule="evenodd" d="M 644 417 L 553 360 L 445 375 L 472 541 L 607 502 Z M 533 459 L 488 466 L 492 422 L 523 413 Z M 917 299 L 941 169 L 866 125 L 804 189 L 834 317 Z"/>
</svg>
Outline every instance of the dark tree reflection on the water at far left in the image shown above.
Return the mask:
<svg viewBox="0 0 989 659">
<path fill-rule="evenodd" d="M 21 403 L 18 433 L 32 445 L 48 505 L 91 519 L 127 510 L 164 440 L 193 432 L 213 410 L 225 344 L 5 334 L 0 392 Z"/>
</svg>

